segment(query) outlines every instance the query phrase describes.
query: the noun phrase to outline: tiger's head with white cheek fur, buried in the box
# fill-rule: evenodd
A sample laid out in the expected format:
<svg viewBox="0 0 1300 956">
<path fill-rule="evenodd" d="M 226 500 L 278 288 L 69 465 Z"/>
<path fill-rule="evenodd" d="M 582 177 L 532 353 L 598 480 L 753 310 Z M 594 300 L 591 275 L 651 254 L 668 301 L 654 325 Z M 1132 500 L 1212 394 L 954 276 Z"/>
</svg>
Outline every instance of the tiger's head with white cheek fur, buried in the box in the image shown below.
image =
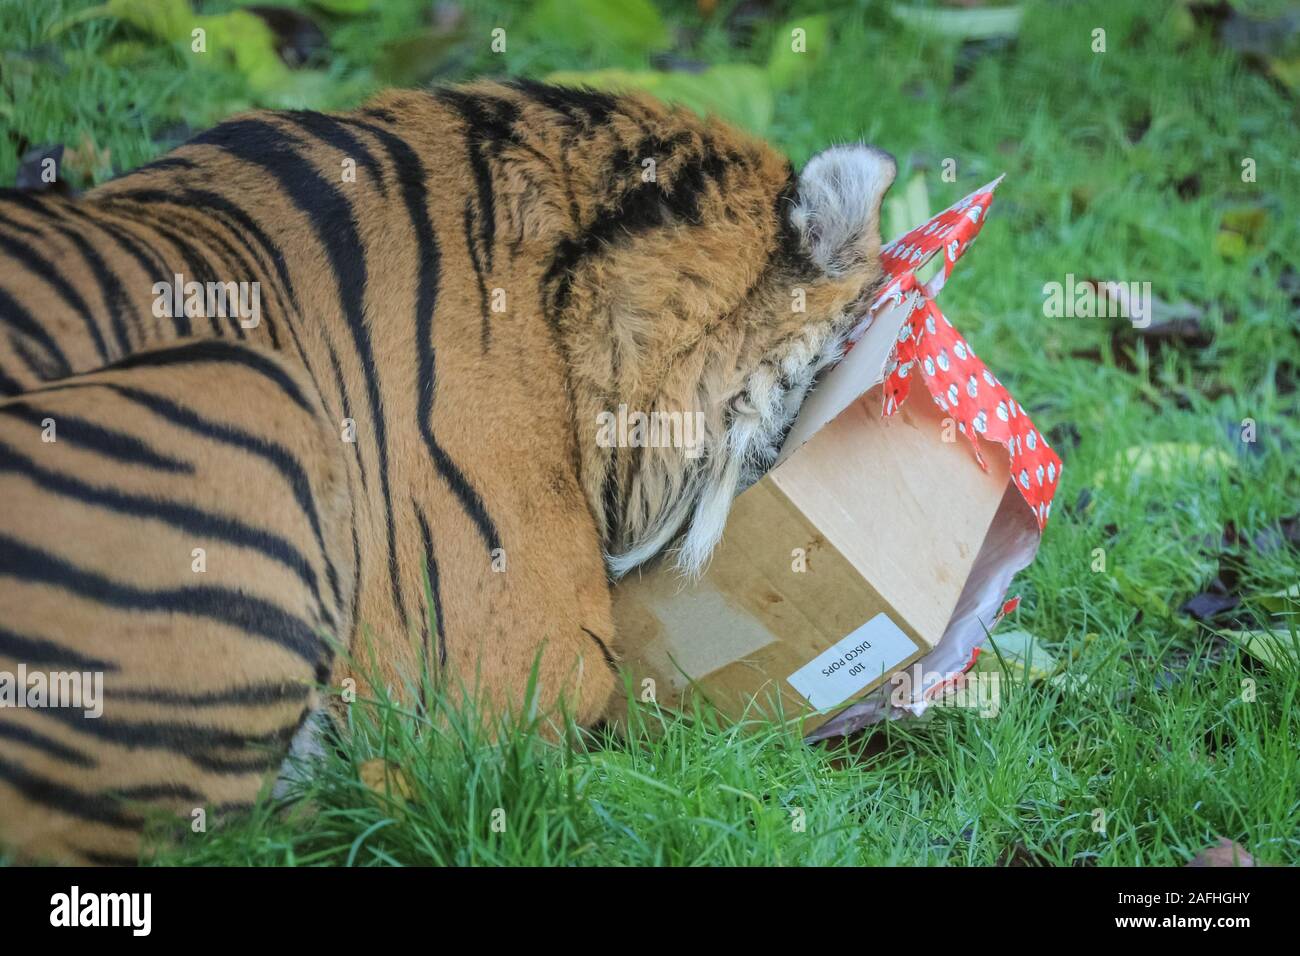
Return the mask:
<svg viewBox="0 0 1300 956">
<path fill-rule="evenodd" d="M 796 177 L 740 133 L 666 117 L 659 139 L 681 148 L 642 161 L 654 183 L 615 207 L 641 221 L 564 280 L 582 481 L 615 578 L 664 549 L 702 572 L 880 286 L 896 174 L 836 146 Z"/>
</svg>

